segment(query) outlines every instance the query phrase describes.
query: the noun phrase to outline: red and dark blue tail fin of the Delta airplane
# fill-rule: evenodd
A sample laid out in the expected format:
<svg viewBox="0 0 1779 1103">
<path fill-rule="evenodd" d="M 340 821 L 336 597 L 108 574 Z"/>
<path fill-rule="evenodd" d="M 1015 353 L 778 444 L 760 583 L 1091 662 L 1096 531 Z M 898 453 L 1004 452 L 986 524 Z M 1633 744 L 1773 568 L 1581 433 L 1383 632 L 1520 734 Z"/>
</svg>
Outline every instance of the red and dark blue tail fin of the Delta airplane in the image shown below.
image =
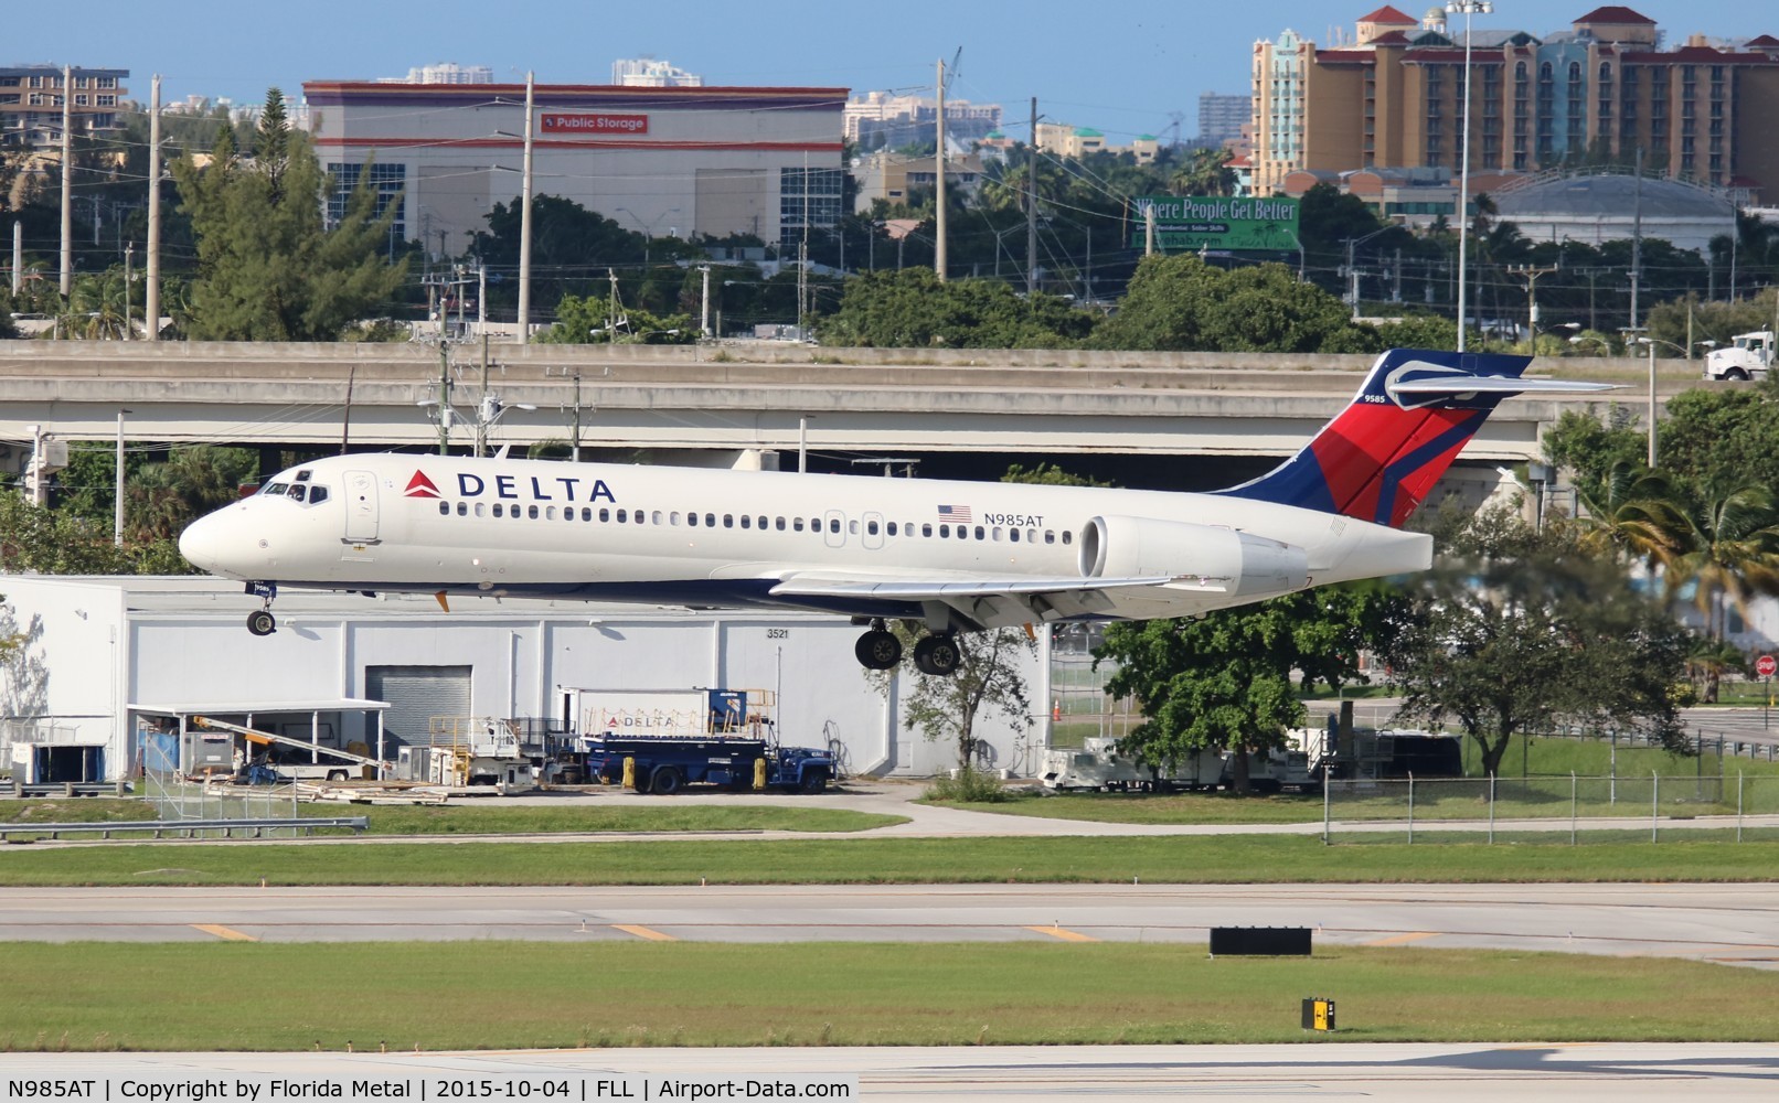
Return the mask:
<svg viewBox="0 0 1779 1103">
<path fill-rule="evenodd" d="M 1606 382 L 1521 379 L 1530 356 L 1391 349 L 1347 409 L 1272 471 L 1219 491 L 1402 525 L 1501 399 L 1605 391 Z"/>
</svg>

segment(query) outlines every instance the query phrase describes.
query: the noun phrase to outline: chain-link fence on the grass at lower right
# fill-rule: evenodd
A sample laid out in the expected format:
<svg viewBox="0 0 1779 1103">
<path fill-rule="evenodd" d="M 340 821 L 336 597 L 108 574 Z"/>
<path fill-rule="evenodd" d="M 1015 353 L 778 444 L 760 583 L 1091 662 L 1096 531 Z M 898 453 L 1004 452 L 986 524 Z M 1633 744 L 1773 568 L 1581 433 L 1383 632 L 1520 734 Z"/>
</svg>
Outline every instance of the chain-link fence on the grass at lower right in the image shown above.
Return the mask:
<svg viewBox="0 0 1779 1103">
<path fill-rule="evenodd" d="M 1779 776 L 1331 779 L 1327 841 L 1779 840 Z"/>
</svg>

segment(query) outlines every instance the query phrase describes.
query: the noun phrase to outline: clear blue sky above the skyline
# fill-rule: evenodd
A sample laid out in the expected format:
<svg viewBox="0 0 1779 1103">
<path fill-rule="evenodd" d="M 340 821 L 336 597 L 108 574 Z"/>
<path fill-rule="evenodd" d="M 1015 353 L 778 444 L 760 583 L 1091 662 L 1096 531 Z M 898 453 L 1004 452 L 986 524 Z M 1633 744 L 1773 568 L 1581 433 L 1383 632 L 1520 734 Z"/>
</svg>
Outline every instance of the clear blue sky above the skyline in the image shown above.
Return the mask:
<svg viewBox="0 0 1779 1103">
<path fill-rule="evenodd" d="M 1430 0 L 1397 4 L 1420 16 Z M 954 96 L 998 101 L 1023 119 L 1030 96 L 1050 117 L 1114 139 L 1162 133 L 1197 96 L 1247 89 L 1254 39 L 1286 27 L 1331 43 L 1375 2 L 1064 4 L 1028 0 L 98 0 L 28 4 L 0 16 L 0 64 L 126 68 L 130 91 L 258 101 L 272 84 L 295 98 L 304 80 L 400 76 L 439 60 L 491 66 L 498 78 L 534 69 L 546 84 L 603 84 L 617 57 L 655 55 L 706 84 L 840 85 L 854 91 L 932 84 L 934 60 L 962 48 Z M 1500 0 L 1477 27 L 1533 34 L 1567 28 L 1592 4 Z M 1688 34 L 1779 36 L 1779 5 L 1749 0 L 1630 4 L 1676 43 Z M 25 14 L 28 9 L 28 16 Z"/>
</svg>

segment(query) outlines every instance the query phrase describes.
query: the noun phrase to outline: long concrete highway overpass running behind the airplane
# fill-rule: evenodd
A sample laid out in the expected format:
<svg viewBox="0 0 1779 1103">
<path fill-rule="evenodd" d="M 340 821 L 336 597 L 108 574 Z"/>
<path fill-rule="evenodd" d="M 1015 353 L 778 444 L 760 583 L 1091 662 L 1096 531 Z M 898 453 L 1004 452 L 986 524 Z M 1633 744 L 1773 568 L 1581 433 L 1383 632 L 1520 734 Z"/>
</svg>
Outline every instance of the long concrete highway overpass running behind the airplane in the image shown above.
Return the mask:
<svg viewBox="0 0 1779 1103">
<path fill-rule="evenodd" d="M 447 350 L 459 423 L 473 439 L 482 347 Z M 1283 457 L 1357 388 L 1368 356 L 1210 352 L 822 349 L 737 342 L 671 345 L 493 345 L 489 390 L 509 406 L 495 445 L 568 439 L 576 395 L 584 445 L 648 448 L 683 463 L 737 450 L 872 455 Z M 1667 361 L 1662 393 L 1697 382 Z M 1532 374 L 1617 379 L 1612 397 L 1514 399 L 1466 461 L 1537 455 L 1562 409 L 1647 409 L 1640 359 L 1541 361 Z M 441 354 L 418 343 L 0 342 L 0 441 L 18 470 L 27 425 L 110 441 L 128 409 L 132 441 L 340 448 L 350 395 L 354 448 L 438 445 Z M 576 379 L 578 377 L 578 379 Z M 431 406 L 429 406 L 431 402 Z M 518 406 L 535 409 L 519 409 Z M 607 452 L 610 454 L 610 452 Z M 699 457 L 697 454 L 704 454 Z M 790 464 L 786 464 L 790 466 Z M 1213 480 L 1215 482 L 1215 480 Z"/>
</svg>

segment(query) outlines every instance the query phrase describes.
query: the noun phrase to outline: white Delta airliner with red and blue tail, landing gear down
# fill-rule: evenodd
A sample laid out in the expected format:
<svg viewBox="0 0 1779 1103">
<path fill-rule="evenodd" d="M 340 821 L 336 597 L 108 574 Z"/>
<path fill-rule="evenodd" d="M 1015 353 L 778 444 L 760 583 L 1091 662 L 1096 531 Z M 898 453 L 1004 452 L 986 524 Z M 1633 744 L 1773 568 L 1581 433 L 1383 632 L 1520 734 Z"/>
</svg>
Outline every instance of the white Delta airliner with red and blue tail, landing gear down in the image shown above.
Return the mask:
<svg viewBox="0 0 1779 1103">
<path fill-rule="evenodd" d="M 194 521 L 180 552 L 262 598 L 278 587 L 584 598 L 852 616 L 857 658 L 957 669 L 957 632 L 1203 614 L 1329 582 L 1420 571 L 1400 525 L 1528 358 L 1397 349 L 1297 455 L 1213 493 L 336 455 Z"/>
</svg>

